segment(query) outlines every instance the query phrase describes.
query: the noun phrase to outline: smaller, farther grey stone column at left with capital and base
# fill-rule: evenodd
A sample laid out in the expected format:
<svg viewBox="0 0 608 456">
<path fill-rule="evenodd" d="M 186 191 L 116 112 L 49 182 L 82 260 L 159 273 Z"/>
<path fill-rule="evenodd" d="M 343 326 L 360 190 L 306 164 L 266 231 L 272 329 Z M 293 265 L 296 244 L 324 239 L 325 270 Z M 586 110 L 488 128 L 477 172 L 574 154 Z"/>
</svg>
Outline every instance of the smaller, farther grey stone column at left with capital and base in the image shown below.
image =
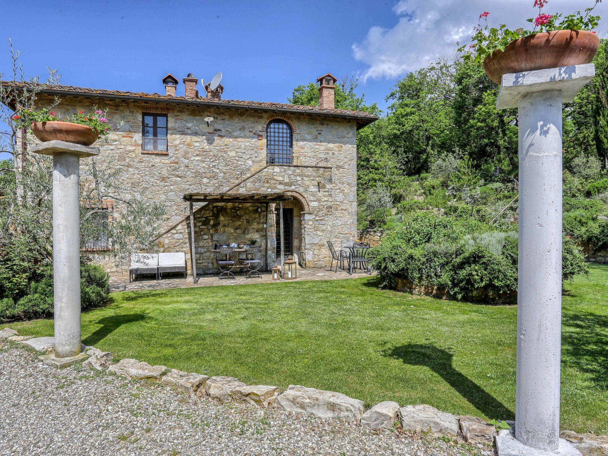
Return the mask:
<svg viewBox="0 0 608 456">
<path fill-rule="evenodd" d="M 42 358 L 64 367 L 86 358 L 80 353 L 80 158 L 99 149 L 54 140 L 30 151 L 53 156 L 55 353 Z"/>
</svg>

